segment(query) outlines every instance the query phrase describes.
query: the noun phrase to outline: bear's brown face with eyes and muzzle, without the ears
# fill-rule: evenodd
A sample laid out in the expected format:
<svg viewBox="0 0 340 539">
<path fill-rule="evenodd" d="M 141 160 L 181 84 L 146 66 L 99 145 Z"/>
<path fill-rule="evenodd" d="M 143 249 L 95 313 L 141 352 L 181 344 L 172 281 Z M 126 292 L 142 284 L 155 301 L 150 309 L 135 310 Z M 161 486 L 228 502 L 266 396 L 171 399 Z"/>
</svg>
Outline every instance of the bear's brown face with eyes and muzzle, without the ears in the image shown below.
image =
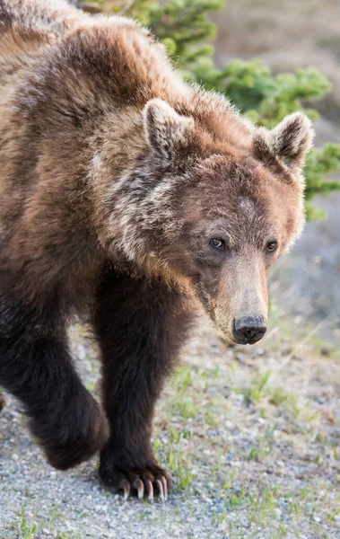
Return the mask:
<svg viewBox="0 0 340 539">
<path fill-rule="evenodd" d="M 251 157 L 213 156 L 190 176 L 164 251 L 222 334 L 252 344 L 266 332 L 268 270 L 301 231 L 301 189 Z"/>
</svg>

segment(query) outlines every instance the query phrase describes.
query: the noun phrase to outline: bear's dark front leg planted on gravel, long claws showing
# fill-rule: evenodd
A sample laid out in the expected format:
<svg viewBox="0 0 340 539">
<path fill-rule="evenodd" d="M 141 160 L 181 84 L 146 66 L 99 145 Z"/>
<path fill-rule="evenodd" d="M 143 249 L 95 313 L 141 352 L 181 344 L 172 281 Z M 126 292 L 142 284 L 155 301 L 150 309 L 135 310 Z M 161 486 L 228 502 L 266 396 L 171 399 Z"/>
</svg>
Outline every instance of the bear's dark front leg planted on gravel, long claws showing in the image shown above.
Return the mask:
<svg viewBox="0 0 340 539">
<path fill-rule="evenodd" d="M 183 296 L 160 282 L 112 271 L 97 291 L 94 329 L 101 355 L 104 407 L 110 437 L 100 455 L 109 487 L 166 499 L 170 475 L 151 446 L 154 403 L 187 334 Z"/>
</svg>

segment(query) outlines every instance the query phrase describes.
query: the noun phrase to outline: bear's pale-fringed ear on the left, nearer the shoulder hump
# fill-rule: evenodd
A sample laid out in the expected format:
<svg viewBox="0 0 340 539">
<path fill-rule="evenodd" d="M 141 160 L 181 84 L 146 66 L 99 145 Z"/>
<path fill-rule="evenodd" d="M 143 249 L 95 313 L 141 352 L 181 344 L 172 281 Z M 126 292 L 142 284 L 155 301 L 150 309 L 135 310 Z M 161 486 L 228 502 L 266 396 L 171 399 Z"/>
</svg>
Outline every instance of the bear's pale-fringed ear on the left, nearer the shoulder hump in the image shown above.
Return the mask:
<svg viewBox="0 0 340 539">
<path fill-rule="evenodd" d="M 144 132 L 149 146 L 169 162 L 179 146 L 186 146 L 194 120 L 181 116 L 167 102 L 152 99 L 144 107 Z"/>
</svg>

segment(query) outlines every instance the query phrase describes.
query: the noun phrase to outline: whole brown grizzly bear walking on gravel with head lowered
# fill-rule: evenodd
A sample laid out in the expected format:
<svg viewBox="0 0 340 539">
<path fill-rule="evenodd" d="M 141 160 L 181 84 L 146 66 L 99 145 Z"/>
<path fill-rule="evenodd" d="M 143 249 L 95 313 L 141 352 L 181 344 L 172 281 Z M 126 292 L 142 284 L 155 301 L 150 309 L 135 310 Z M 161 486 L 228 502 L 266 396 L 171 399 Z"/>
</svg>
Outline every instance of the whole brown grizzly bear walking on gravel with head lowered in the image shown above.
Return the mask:
<svg viewBox="0 0 340 539">
<path fill-rule="evenodd" d="M 125 497 L 166 498 L 154 404 L 198 300 L 224 337 L 266 332 L 266 277 L 303 225 L 312 130 L 256 128 L 185 83 L 135 22 L 0 0 L 0 384 L 60 470 L 100 451 Z M 92 324 L 102 406 L 67 327 Z"/>
</svg>

